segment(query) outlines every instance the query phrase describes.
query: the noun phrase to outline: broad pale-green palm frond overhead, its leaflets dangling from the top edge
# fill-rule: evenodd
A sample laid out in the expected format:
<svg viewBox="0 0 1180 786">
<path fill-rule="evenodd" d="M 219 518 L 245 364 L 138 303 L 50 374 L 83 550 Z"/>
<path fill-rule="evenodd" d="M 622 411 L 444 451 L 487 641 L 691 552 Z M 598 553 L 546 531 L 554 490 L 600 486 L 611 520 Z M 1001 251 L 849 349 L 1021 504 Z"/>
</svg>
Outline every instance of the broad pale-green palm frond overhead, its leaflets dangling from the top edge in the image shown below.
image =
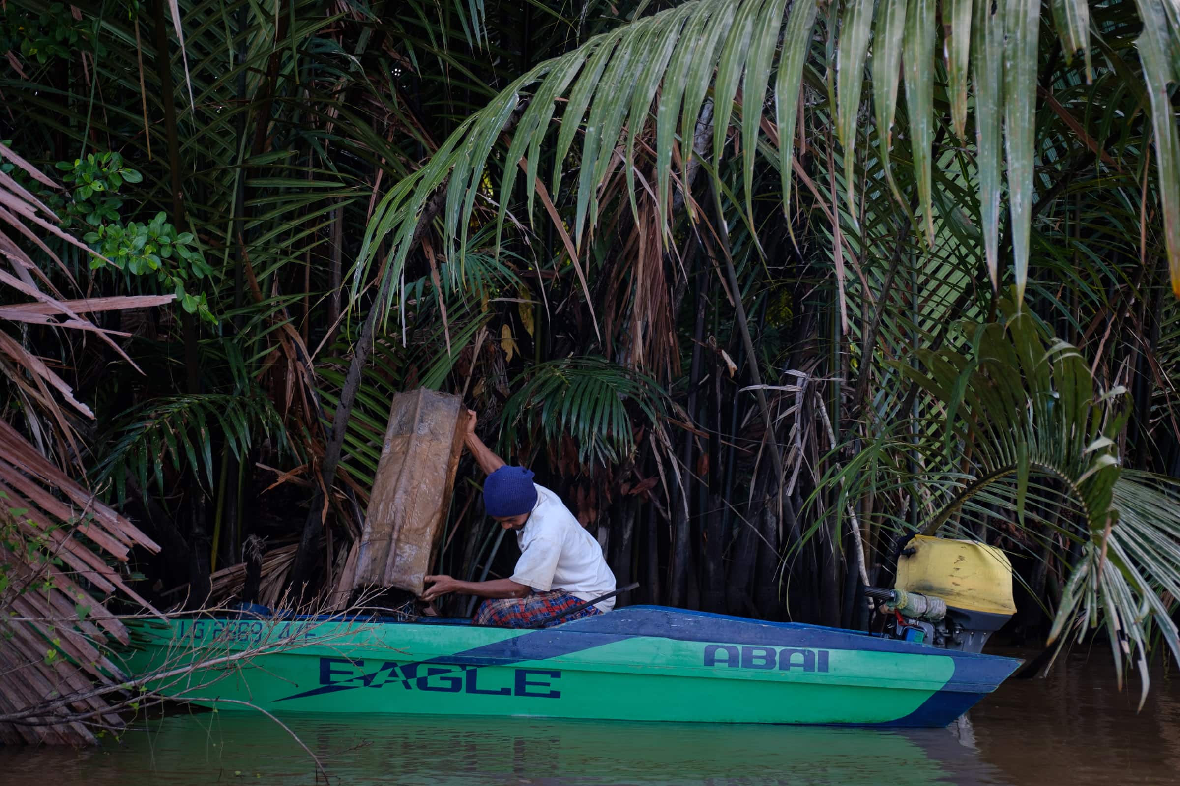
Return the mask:
<svg viewBox="0 0 1180 786">
<path fill-rule="evenodd" d="M 962 7 L 962 2 L 948 0 L 948 8 L 942 13 L 943 18 L 955 15 L 957 24 L 966 27 L 969 14 Z M 500 213 L 498 220 L 503 223 L 505 205 L 511 198 L 511 190 L 517 173 L 517 163 L 525 151 L 535 153 L 540 140 L 550 132 L 550 118 L 553 115 L 552 101 L 562 95 L 568 97 L 565 111 L 562 114 L 560 131 L 557 134 L 556 164 L 550 191 L 558 193 L 562 184 L 562 169 L 572 141 L 579 130 L 584 131 L 584 144 L 578 159 L 582 177 L 577 184 L 577 206 L 575 210 L 575 235 L 577 242 L 583 242 L 583 224 L 594 226 L 598 220 L 595 194 L 611 171 L 609 161 L 615 156 L 622 156 L 621 169 L 627 173 L 627 193 L 630 203 L 635 204 L 635 178 L 636 167 L 634 139 L 640 130 L 648 126 L 657 108 L 653 106 L 654 87 L 663 85 L 661 93 L 661 106 L 668 107 L 664 114 L 664 133 L 656 133 L 655 161 L 658 167 L 657 180 L 667 178 L 667 172 L 671 166 L 670 148 L 676 140 L 667 132 L 671 127 L 670 107 L 680 107 L 680 127 L 682 128 L 680 145 L 684 145 L 688 138 L 687 128 L 695 127 L 701 101 L 706 87 L 712 82 L 714 99 L 716 100 L 715 124 L 717 131 L 714 133 L 714 146 L 712 156 L 712 171 L 714 177 L 721 171 L 725 156 L 726 143 L 729 138 L 729 120 L 733 110 L 733 98 L 736 94 L 736 86 L 740 75 L 746 72 L 754 74 L 753 79 L 747 79 L 746 87 L 753 92 L 742 97 L 742 104 L 748 110 L 743 110 L 745 120 L 734 131 L 734 136 L 740 143 L 740 147 L 746 153 L 746 170 L 750 169 L 749 156 L 753 151 L 760 150 L 759 137 L 762 127 L 758 123 L 750 121 L 759 112 L 755 107 L 762 106 L 766 100 L 766 87 L 769 80 L 761 79 L 762 62 L 768 49 L 766 41 L 781 39 L 781 45 L 771 59 L 768 67 L 782 74 L 789 73 L 793 77 L 796 66 L 796 55 L 800 51 L 806 51 L 815 32 L 811 25 L 791 25 L 789 16 L 798 13 L 809 14 L 807 4 L 795 4 L 786 15 L 773 13 L 778 8 L 775 4 L 767 4 L 768 13 L 761 13 L 762 0 L 699 0 L 688 2 L 673 9 L 660 12 L 653 16 L 642 18 L 629 25 L 620 27 L 610 33 L 602 34 L 586 41 L 583 46 L 560 58 L 548 60 L 529 72 L 517 78 L 509 87 L 497 94 L 491 103 L 476 114 L 468 117 L 442 144 L 431 161 L 421 170 L 399 183 L 396 187 L 387 192 L 380 209 L 374 213 L 366 233 L 362 259 L 366 270 L 373 265 L 378 258 L 380 240 L 387 236 L 392 237 L 393 247 L 384 256 L 392 264 L 387 265 L 388 275 L 398 276 L 405 263 L 406 255 L 413 240 L 414 229 L 418 217 L 427 199 L 439 187 L 446 187 L 446 207 L 442 213 L 445 230 L 444 236 L 458 240 L 461 246 L 465 243 L 470 217 L 479 193 L 483 180 L 486 177 L 487 166 L 491 164 L 492 148 L 496 145 L 502 131 L 510 124 L 518 120 L 513 130 L 512 144 L 506 158 L 500 163 L 503 166 L 500 187 Z M 871 14 L 868 4 L 852 2 L 845 14 L 846 29 L 841 33 L 841 44 L 847 46 L 841 48 L 840 54 L 840 118 L 837 124 L 841 136 L 850 136 L 850 128 L 854 124 L 854 118 L 859 112 L 859 95 L 861 90 L 853 85 L 859 80 L 863 70 L 863 51 L 867 45 L 867 29 Z M 932 92 L 936 74 L 939 72 L 940 62 L 936 54 L 938 47 L 935 42 L 938 38 L 936 20 L 939 18 L 936 0 L 913 0 L 910 2 L 905 16 L 903 62 L 905 65 L 905 86 L 907 106 L 910 112 L 909 143 L 911 148 L 911 161 L 914 179 L 918 184 L 918 196 L 922 204 L 923 222 L 929 244 L 935 242 L 933 230 L 933 198 L 931 180 L 931 146 L 933 141 L 933 128 L 936 123 L 936 108 L 932 103 Z M 951 6 L 955 6 L 953 8 Z M 1153 95 L 1153 119 L 1155 123 L 1155 143 L 1158 159 L 1158 189 L 1161 199 L 1161 207 L 1166 216 L 1167 227 L 1167 253 L 1173 265 L 1176 265 L 1174 282 L 1180 282 L 1180 202 L 1173 194 L 1180 193 L 1180 137 L 1178 137 L 1176 124 L 1172 114 L 1171 105 L 1167 105 L 1167 85 L 1178 81 L 1173 73 L 1173 59 L 1167 57 L 1168 52 L 1180 51 L 1180 22 L 1173 16 L 1175 14 L 1165 13 L 1161 0 L 1149 0 L 1141 6 L 1140 13 L 1148 24 L 1145 31 L 1150 28 L 1140 39 L 1141 64 L 1143 79 Z M 988 177 L 981 178 L 978 184 L 979 203 L 985 206 L 983 216 L 983 239 L 988 253 L 988 259 L 998 259 L 998 231 L 999 213 L 995 209 L 999 196 L 998 180 L 995 177 L 996 166 L 999 164 L 998 137 L 996 136 L 994 118 L 995 113 L 979 117 L 981 112 L 988 112 L 991 107 L 1003 107 L 1005 117 L 1007 137 L 1007 170 L 1009 191 L 1009 218 L 1011 222 L 1014 242 L 1014 265 L 1017 297 L 1023 297 L 1025 282 L 1028 278 L 1028 257 L 1030 247 L 1030 232 L 1032 222 L 1032 202 L 1035 193 L 1034 184 L 1034 159 L 1038 154 L 1036 148 L 1037 123 L 1034 113 L 1036 70 L 1038 52 L 1040 29 L 1040 4 L 1016 2 L 1003 7 L 1004 16 L 999 18 L 992 13 L 992 8 L 998 8 L 990 0 L 976 0 L 976 27 L 978 28 L 977 57 L 966 64 L 964 55 L 964 44 L 959 41 L 952 47 L 955 54 L 955 79 L 956 91 L 962 93 L 966 80 L 966 70 L 976 84 L 977 92 L 983 99 L 981 107 L 976 108 L 977 120 L 981 125 L 981 153 L 990 157 L 986 170 Z M 892 5 L 886 5 L 883 13 L 892 14 L 889 19 L 896 19 L 896 9 Z M 756 34 L 754 20 L 758 19 Z M 1003 26 L 1003 35 L 1001 27 Z M 889 25 L 885 29 L 891 29 Z M 1076 26 L 1067 29 L 1075 31 Z M 965 33 L 965 31 L 964 31 Z M 784 38 L 786 37 L 786 38 Z M 847 39 L 847 41 L 845 41 Z M 617 75 L 632 57 L 637 46 L 647 46 L 648 42 L 667 42 L 667 49 L 658 48 L 644 61 L 641 72 L 641 81 L 636 90 L 620 90 Z M 890 61 L 890 47 L 892 41 L 878 41 L 878 46 L 884 53 L 883 60 Z M 1087 46 L 1084 40 L 1070 32 L 1067 46 Z M 999 48 L 997 48 L 999 47 Z M 693 54 L 693 67 L 684 79 L 680 73 L 671 74 L 667 71 L 669 64 L 683 64 L 686 55 L 683 51 L 690 49 Z M 1070 49 L 1073 52 L 1073 49 Z M 1087 49 L 1088 52 L 1088 49 Z M 876 55 L 874 55 L 876 57 Z M 886 66 L 887 67 L 887 66 Z M 889 81 L 886 77 L 886 84 Z M 791 82 L 791 84 L 787 84 Z M 779 106 L 779 119 L 781 123 L 782 112 L 787 101 L 796 94 L 798 85 L 793 80 L 775 80 L 775 95 L 773 97 Z M 651 91 L 647 87 L 650 85 Z M 532 100 L 530 93 L 532 91 Z M 674 93 L 669 94 L 669 91 Z M 648 93 L 651 92 L 649 95 Z M 881 98 L 881 93 L 877 98 Z M 1162 99 L 1160 97 L 1163 97 Z M 891 91 L 886 90 L 884 97 L 892 101 Z M 522 106 L 527 104 L 527 106 Z M 793 101 L 789 104 L 793 105 Z M 878 107 L 878 112 L 881 108 Z M 956 128 L 962 130 L 965 123 L 961 115 L 961 110 L 955 112 Z M 881 117 L 890 118 L 892 111 L 885 107 Z M 658 125 L 658 117 L 656 118 Z M 886 120 L 887 121 L 887 120 Z M 625 140 L 621 138 L 623 128 L 627 128 Z M 887 128 L 878 130 L 879 134 L 887 134 Z M 624 144 L 625 143 L 625 144 Z M 779 139 L 780 150 L 792 145 L 793 139 Z M 845 153 L 851 158 L 853 144 L 852 139 L 845 140 Z M 667 145 L 661 147 L 660 145 Z M 617 148 L 622 148 L 622 153 Z M 771 152 L 771 151 L 767 151 Z M 775 153 L 775 158 L 779 154 Z M 529 184 L 532 184 L 532 167 L 536 166 L 536 154 L 530 156 Z M 791 169 L 791 156 L 781 156 L 780 169 L 782 177 L 787 177 Z M 846 163 L 846 167 L 850 165 Z M 851 172 L 851 169 L 846 169 Z M 850 204 L 854 193 L 853 183 L 847 184 Z M 717 187 L 721 184 L 717 183 Z M 861 183 L 859 190 L 870 189 L 871 184 Z M 787 185 L 784 185 L 781 198 L 786 199 Z M 668 197 L 660 190 L 657 194 L 658 213 L 667 216 Z M 747 196 L 746 212 L 749 212 L 750 200 Z M 1175 204 L 1173 204 L 1175 203 Z M 450 256 L 448 249 L 448 256 Z M 460 251 L 461 259 L 461 251 Z M 1180 283 L 1175 284 L 1180 286 Z M 387 308 L 388 304 L 386 304 Z"/>
</svg>

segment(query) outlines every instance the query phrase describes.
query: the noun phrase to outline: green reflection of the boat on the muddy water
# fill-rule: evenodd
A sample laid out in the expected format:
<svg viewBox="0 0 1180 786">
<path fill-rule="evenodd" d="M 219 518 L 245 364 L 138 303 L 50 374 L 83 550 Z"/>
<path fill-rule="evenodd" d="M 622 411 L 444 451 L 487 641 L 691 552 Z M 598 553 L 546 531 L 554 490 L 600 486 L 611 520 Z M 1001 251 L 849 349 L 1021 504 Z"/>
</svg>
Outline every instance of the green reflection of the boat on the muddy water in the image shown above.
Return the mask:
<svg viewBox="0 0 1180 786">
<path fill-rule="evenodd" d="M 527 718 L 388 715 L 283 719 L 341 784 L 664 786 L 999 784 L 948 729 L 876 731 Z M 232 779 L 313 782 L 309 759 L 256 715 L 173 716 L 123 745 L 47 761 L 58 782 Z M 30 773 L 32 774 L 32 773 Z"/>
</svg>

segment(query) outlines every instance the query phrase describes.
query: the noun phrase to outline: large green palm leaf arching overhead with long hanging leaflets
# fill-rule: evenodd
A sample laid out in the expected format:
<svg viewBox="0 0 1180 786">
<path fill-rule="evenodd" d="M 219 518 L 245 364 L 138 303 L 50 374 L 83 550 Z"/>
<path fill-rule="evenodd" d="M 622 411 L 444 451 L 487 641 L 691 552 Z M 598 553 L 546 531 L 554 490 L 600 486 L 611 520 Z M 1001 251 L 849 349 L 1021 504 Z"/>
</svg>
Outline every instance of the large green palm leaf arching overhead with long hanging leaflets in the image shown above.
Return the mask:
<svg viewBox="0 0 1180 786">
<path fill-rule="evenodd" d="M 1081 4 L 1081 8 L 1079 7 Z M 942 13 L 939 13 L 939 7 Z M 974 7 L 974 12 L 971 11 Z M 1088 55 L 1088 39 L 1081 32 L 1083 0 L 1055 4 L 1063 45 L 1073 54 L 1081 48 Z M 872 51 L 876 118 L 889 125 L 896 106 L 896 64 L 905 70 L 909 124 L 907 136 L 912 167 L 918 184 L 927 243 L 933 243 L 935 205 L 931 196 L 931 144 L 937 121 L 933 105 L 935 80 L 942 72 L 939 16 L 950 20 L 948 41 L 951 80 L 951 115 L 956 132 L 963 133 L 970 105 L 966 86 L 975 85 L 978 154 L 983 169 L 978 183 L 982 205 L 983 242 L 992 278 L 1001 251 L 998 210 L 1001 190 L 999 111 L 1007 127 L 1007 173 L 1009 213 L 1014 243 L 1014 266 L 1017 296 L 1023 296 L 1028 276 L 1028 257 L 1035 183 L 1034 159 L 1037 154 L 1035 93 L 1040 4 L 1030 0 L 885 0 L 878 5 L 878 24 L 872 2 L 846 0 L 843 29 L 839 31 L 838 85 L 839 118 L 837 128 L 845 146 L 846 173 L 853 172 L 854 133 L 860 113 L 863 90 L 858 84 L 864 73 L 866 52 Z M 1140 0 L 1145 33 L 1139 47 L 1143 78 L 1152 95 L 1152 117 L 1156 146 L 1159 192 L 1166 229 L 1167 253 L 1172 263 L 1174 286 L 1180 291 L 1180 136 L 1168 103 L 1168 85 L 1178 81 L 1180 58 L 1180 20 L 1162 0 Z M 493 165 L 492 147 L 502 132 L 511 132 L 511 143 L 503 160 L 498 199 L 498 226 L 503 225 L 518 164 L 524 167 L 530 193 L 536 185 L 542 140 L 551 133 L 555 104 L 564 99 L 560 130 L 556 134 L 556 156 L 549 192 L 557 199 L 568 154 L 578 133 L 583 136 L 579 176 L 576 181 L 573 230 L 577 242 L 598 220 L 596 194 L 614 171 L 615 157 L 627 176 L 629 202 L 635 205 L 635 139 L 641 130 L 655 130 L 655 181 L 660 214 L 669 206 L 669 181 L 674 166 L 673 146 L 678 144 L 684 159 L 686 145 L 702 103 L 712 87 L 713 134 L 710 171 L 721 177 L 721 160 L 729 148 L 729 124 L 740 118 L 733 130 L 747 176 L 752 170 L 761 134 L 761 107 L 766 91 L 773 86 L 779 148 L 774 156 L 781 171 L 781 198 L 786 206 L 793 158 L 793 118 L 800 91 L 800 68 L 812 40 L 822 31 L 814 25 L 814 4 L 801 0 L 787 8 L 779 0 L 697 0 L 676 8 L 644 16 L 595 37 L 559 58 L 542 62 L 514 80 L 491 103 L 467 118 L 442 144 L 421 170 L 393 186 L 374 211 L 369 222 L 361 264 L 354 282 L 366 279 L 376 262 L 380 240 L 392 236 L 388 252 L 392 262 L 387 275 L 400 276 L 409 252 L 419 214 L 431 196 L 445 189 L 442 211 L 444 237 L 454 238 L 461 271 L 463 246 L 470 216 L 489 167 Z M 903 25 L 904 20 L 904 25 Z M 874 40 L 870 44 L 870 27 Z M 898 37 L 898 33 L 902 33 Z M 830 34 L 837 34 L 834 31 Z M 971 52 L 975 51 L 972 55 Z M 879 66 L 878 66 L 879 64 Z M 630 79 L 624 79 L 630 74 Z M 772 78 L 772 74 L 774 77 Z M 969 80 L 969 75 L 971 79 Z M 735 113 L 735 99 L 742 87 L 741 111 Z M 658 95 L 658 100 L 656 100 Z M 678 113 L 678 124 L 676 123 Z M 673 130 L 680 127 L 678 141 Z M 878 128 L 883 154 L 887 156 L 890 130 Z M 527 152 L 527 156 L 525 156 Z M 850 204 L 857 191 L 846 174 Z M 750 178 L 746 178 L 749 189 Z M 720 189 L 721 185 L 717 184 Z M 867 187 L 867 184 L 861 184 Z M 750 193 L 743 200 L 750 210 Z M 530 197 L 530 217 L 532 198 Z M 852 218 L 856 218 L 856 211 Z M 974 219 L 974 217 L 972 217 Z M 667 225 L 666 225 L 667 226 Z M 497 230 L 499 231 L 499 229 Z M 454 249 L 447 249 L 452 258 Z M 577 260 L 575 264 L 578 265 Z M 578 266 L 584 282 L 584 271 Z M 585 285 L 583 284 L 585 289 Z M 589 290 L 584 291 L 590 302 Z M 392 303 L 392 293 L 386 308 Z"/>
</svg>

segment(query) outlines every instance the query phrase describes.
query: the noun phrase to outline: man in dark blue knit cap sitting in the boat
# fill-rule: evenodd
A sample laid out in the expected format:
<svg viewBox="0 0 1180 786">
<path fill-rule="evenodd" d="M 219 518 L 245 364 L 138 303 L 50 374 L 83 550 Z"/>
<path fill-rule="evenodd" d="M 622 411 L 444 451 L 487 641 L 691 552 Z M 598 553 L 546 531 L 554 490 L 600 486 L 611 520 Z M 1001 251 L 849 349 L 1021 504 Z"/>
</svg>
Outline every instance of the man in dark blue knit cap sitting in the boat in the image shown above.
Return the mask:
<svg viewBox="0 0 1180 786">
<path fill-rule="evenodd" d="M 476 612 L 476 625 L 533 628 L 615 607 L 608 599 L 571 614 L 562 614 L 585 601 L 615 592 L 615 574 L 603 559 L 602 547 L 578 523 L 556 494 L 532 482 L 524 467 L 509 467 L 476 436 L 476 414 L 467 412 L 464 444 L 487 475 L 484 508 L 505 530 L 512 530 L 520 559 L 509 579 L 459 581 L 451 576 L 426 576 L 430 584 L 422 600 L 447 593 L 485 597 Z"/>
</svg>

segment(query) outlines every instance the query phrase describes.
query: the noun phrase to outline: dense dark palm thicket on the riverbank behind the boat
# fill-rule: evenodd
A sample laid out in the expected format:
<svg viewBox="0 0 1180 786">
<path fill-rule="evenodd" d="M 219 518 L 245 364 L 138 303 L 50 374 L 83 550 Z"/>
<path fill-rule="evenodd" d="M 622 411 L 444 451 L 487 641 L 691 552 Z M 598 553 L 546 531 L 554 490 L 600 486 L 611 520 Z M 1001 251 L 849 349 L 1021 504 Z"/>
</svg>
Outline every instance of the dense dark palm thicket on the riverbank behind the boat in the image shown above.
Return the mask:
<svg viewBox="0 0 1180 786">
<path fill-rule="evenodd" d="M 1096 630 L 1145 691 L 1178 652 L 1172 4 L 2 14 L 0 490 L 105 553 L 61 566 L 92 597 L 98 561 L 159 608 L 345 602 L 425 385 L 621 602 L 865 627 L 898 535 L 939 531 L 1012 556 L 1015 640 Z M 439 572 L 506 575 L 460 478 Z"/>
</svg>

